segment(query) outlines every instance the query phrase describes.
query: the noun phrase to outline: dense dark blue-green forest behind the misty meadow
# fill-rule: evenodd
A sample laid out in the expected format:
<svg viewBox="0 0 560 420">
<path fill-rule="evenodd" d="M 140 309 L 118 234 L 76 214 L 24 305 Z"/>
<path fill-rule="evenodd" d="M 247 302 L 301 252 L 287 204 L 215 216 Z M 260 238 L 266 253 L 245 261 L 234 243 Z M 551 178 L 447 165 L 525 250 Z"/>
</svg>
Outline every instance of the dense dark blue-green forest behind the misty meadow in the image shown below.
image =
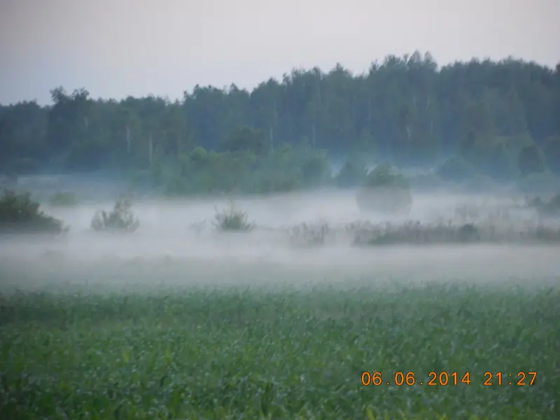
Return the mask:
<svg viewBox="0 0 560 420">
<path fill-rule="evenodd" d="M 49 106 L 0 106 L 1 173 L 112 170 L 169 193 L 311 186 L 346 158 L 339 182 L 351 184 L 360 157 L 456 181 L 560 175 L 560 64 L 440 67 L 414 52 L 359 75 L 294 69 L 251 92 L 197 85 L 175 102 L 51 95 Z"/>
</svg>

